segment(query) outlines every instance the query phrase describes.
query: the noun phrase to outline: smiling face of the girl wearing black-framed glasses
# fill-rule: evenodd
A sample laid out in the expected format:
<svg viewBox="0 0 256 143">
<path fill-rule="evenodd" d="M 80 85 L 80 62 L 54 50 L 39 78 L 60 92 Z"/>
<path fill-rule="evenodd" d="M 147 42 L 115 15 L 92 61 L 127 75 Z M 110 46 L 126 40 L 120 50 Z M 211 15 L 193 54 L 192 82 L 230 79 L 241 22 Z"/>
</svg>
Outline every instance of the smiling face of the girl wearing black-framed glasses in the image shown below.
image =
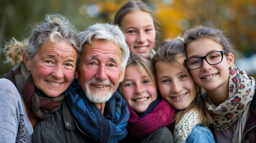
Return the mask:
<svg viewBox="0 0 256 143">
<path fill-rule="evenodd" d="M 220 44 L 208 38 L 194 41 L 186 47 L 187 58 L 202 57 L 215 51 L 223 51 L 223 48 Z M 210 65 L 203 59 L 202 66 L 198 69 L 190 70 L 190 72 L 199 86 L 208 91 L 216 89 L 221 91 L 222 88 L 228 88 L 229 68 L 233 63 L 234 56 L 232 54 L 223 55 L 222 62 L 215 65 Z"/>
</svg>

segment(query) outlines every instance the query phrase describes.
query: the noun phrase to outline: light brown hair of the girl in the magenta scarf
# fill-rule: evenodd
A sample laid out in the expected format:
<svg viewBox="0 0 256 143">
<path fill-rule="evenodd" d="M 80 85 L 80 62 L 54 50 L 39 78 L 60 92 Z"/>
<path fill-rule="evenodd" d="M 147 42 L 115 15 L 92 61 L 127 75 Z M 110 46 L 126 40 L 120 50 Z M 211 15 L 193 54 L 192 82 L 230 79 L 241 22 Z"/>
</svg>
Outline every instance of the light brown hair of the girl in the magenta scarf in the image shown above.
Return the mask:
<svg viewBox="0 0 256 143">
<path fill-rule="evenodd" d="M 156 85 L 154 67 L 149 59 L 146 59 L 146 58 L 142 57 L 141 55 L 132 54 L 128 59 L 126 68 L 131 67 L 131 66 L 139 66 L 139 68 L 146 75 L 146 77 L 149 79 L 149 81 L 152 82 L 153 85 L 155 85 L 156 89 L 158 89 L 157 85 Z M 123 84 L 124 84 L 124 80 L 119 84 L 119 91 L 121 94 L 122 94 L 122 85 Z"/>
</svg>

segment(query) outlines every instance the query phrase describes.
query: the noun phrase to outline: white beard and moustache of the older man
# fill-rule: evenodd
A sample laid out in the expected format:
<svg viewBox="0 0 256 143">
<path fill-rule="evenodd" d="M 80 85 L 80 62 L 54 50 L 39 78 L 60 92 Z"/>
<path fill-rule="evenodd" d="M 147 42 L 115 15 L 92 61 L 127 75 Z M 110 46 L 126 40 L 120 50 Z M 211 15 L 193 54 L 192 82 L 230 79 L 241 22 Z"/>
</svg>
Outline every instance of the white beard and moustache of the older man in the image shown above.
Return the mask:
<svg viewBox="0 0 256 143">
<path fill-rule="evenodd" d="M 97 84 L 97 83 L 101 83 L 101 84 L 105 84 L 105 85 L 109 85 L 110 86 L 110 91 L 109 93 L 107 93 L 107 95 L 102 95 L 100 93 L 104 92 L 101 89 L 97 89 L 94 90 L 96 93 L 92 94 L 89 85 L 91 84 Z M 90 79 L 88 81 L 88 83 L 85 85 L 85 95 L 86 97 L 93 103 L 103 103 L 103 102 L 107 102 L 109 101 L 109 99 L 112 97 L 112 94 L 115 92 L 116 89 L 113 89 L 114 85 L 110 80 L 104 80 L 104 81 L 100 81 L 97 79 Z"/>
</svg>

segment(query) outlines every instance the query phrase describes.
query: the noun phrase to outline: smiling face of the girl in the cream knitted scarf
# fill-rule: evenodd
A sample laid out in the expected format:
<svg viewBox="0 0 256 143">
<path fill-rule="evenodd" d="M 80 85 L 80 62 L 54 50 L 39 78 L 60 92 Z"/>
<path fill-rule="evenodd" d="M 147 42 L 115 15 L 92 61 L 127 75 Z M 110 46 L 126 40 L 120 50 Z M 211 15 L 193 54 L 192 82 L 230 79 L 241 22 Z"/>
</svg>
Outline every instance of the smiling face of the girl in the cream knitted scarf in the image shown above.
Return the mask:
<svg viewBox="0 0 256 143">
<path fill-rule="evenodd" d="M 178 59 L 185 67 L 185 56 Z M 197 87 L 191 79 L 176 66 L 158 61 L 156 64 L 156 79 L 161 96 L 174 108 L 187 108 L 195 99 Z"/>
</svg>

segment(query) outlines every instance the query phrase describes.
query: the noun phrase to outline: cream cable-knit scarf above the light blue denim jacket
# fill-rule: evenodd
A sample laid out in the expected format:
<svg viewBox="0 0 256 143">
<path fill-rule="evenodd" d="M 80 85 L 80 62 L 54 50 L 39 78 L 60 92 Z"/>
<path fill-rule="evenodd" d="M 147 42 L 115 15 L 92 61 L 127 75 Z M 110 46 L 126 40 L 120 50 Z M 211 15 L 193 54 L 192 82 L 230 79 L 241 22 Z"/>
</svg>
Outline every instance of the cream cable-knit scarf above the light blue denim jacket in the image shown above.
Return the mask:
<svg viewBox="0 0 256 143">
<path fill-rule="evenodd" d="M 174 127 L 173 141 L 186 142 L 188 135 L 197 124 L 200 124 L 198 111 L 191 110 L 186 113 L 179 123 Z"/>
</svg>

